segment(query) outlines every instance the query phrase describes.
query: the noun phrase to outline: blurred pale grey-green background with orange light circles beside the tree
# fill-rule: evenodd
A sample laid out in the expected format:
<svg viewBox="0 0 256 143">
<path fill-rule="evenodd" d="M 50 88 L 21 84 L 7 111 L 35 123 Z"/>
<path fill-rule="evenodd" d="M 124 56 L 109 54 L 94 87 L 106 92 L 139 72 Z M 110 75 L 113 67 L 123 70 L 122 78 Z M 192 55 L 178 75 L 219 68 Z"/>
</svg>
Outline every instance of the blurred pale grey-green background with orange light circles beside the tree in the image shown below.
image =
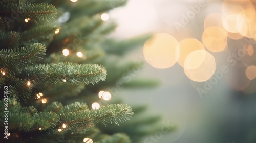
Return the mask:
<svg viewBox="0 0 256 143">
<path fill-rule="evenodd" d="M 177 126 L 144 142 L 256 142 L 256 18 L 254 1 L 130 0 L 108 13 L 128 39 L 151 33 L 125 57 L 144 60 L 130 78 L 155 77 L 161 85 L 121 90 L 130 105 Z"/>
</svg>

